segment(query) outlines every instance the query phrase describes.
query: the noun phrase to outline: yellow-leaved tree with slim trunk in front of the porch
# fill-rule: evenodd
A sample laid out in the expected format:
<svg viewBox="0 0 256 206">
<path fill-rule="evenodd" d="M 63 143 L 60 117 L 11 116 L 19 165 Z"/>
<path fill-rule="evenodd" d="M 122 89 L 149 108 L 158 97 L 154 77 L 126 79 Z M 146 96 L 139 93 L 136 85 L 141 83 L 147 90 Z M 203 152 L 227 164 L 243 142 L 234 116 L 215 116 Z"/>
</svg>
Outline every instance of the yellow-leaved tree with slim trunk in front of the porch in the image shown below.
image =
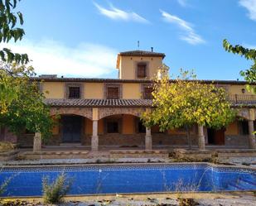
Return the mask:
<svg viewBox="0 0 256 206">
<path fill-rule="evenodd" d="M 192 125 L 220 129 L 232 122 L 235 116 L 225 89 L 200 82 L 188 71 L 181 70 L 181 76 L 174 82 L 167 78 L 156 80 L 152 96 L 154 108 L 143 113 L 144 125 L 158 125 L 161 132 L 185 127 L 190 149 Z"/>
</svg>

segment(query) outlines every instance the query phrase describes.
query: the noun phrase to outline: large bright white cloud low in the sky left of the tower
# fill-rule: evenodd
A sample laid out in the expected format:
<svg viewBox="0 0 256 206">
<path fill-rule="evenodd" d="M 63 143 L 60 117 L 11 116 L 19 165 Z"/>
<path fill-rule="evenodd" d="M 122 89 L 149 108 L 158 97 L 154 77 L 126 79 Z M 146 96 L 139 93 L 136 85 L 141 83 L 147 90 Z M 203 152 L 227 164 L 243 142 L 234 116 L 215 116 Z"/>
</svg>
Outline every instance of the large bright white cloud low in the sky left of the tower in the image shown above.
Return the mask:
<svg viewBox="0 0 256 206">
<path fill-rule="evenodd" d="M 36 74 L 99 77 L 115 71 L 117 51 L 107 46 L 81 43 L 70 47 L 58 41 L 27 41 L 1 45 L 27 53 Z"/>
</svg>

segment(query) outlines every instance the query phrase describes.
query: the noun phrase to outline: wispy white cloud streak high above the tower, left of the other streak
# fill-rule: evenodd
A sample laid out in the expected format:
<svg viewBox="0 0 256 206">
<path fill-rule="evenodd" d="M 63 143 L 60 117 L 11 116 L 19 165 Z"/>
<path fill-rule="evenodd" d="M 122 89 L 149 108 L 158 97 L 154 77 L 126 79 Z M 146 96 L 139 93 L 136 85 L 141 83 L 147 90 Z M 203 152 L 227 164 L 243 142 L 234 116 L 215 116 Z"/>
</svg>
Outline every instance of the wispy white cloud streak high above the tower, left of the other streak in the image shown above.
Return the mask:
<svg viewBox="0 0 256 206">
<path fill-rule="evenodd" d="M 149 23 L 147 19 L 139 16 L 135 12 L 125 12 L 121 9 L 118 9 L 117 7 L 114 7 L 113 5 L 110 5 L 110 8 L 104 8 L 100 6 L 99 4 L 94 2 L 95 7 L 98 8 L 99 12 L 111 19 L 114 20 L 123 20 L 123 21 L 132 21 L 132 22 L 140 22 L 140 23 Z"/>
</svg>

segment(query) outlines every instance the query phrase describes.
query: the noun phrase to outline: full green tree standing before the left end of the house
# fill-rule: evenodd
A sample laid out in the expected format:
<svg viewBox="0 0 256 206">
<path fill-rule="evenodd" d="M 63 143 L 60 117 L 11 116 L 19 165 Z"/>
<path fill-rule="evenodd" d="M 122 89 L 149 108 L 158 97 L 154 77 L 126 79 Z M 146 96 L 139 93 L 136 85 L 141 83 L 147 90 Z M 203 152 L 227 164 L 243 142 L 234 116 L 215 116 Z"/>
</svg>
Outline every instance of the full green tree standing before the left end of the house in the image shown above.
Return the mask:
<svg viewBox="0 0 256 206">
<path fill-rule="evenodd" d="M 0 85 L 4 79 L 6 85 L 12 86 L 8 90 L 15 93 L 12 101 L 0 98 L 0 126 L 7 127 L 15 134 L 27 129 L 49 137 L 53 126 L 50 108 L 44 103 L 45 97 L 39 89 L 40 83 L 31 81 L 33 75 L 33 68 L 26 65 L 13 63 L 0 68 Z M 5 94 L 9 96 L 8 93 Z"/>
</svg>

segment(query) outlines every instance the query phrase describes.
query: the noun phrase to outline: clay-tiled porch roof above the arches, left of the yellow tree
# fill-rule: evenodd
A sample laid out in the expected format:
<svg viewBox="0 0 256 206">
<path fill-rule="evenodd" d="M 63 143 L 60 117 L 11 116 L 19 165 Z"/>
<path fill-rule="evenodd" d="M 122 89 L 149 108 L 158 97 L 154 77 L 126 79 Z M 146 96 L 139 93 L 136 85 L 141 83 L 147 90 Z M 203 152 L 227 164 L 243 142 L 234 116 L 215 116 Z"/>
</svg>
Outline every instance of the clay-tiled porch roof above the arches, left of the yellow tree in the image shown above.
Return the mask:
<svg viewBox="0 0 256 206">
<path fill-rule="evenodd" d="M 52 107 L 152 107 L 151 99 L 68 99 L 47 98 L 45 103 Z"/>
</svg>

